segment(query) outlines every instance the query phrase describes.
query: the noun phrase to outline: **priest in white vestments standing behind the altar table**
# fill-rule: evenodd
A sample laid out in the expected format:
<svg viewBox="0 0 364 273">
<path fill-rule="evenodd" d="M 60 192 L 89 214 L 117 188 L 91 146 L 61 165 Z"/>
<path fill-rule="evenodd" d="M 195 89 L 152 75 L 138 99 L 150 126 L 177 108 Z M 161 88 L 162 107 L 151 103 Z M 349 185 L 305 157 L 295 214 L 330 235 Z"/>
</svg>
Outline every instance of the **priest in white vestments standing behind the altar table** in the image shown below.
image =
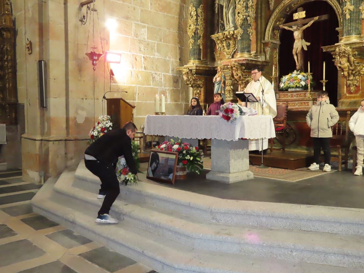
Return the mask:
<svg viewBox="0 0 364 273">
<path fill-rule="evenodd" d="M 248 103 L 248 107 L 257 110 L 258 115 L 270 115 L 274 118 L 277 115 L 277 103 L 272 84 L 262 76 L 262 70 L 258 67 L 252 69 L 252 78 L 253 80 L 248 83 L 244 92 L 253 93 L 259 102 Z M 268 149 L 268 139 L 266 138 L 263 139 L 263 150 L 265 149 Z M 261 139 L 249 140 L 249 151 L 253 150 L 262 150 Z"/>
</svg>

